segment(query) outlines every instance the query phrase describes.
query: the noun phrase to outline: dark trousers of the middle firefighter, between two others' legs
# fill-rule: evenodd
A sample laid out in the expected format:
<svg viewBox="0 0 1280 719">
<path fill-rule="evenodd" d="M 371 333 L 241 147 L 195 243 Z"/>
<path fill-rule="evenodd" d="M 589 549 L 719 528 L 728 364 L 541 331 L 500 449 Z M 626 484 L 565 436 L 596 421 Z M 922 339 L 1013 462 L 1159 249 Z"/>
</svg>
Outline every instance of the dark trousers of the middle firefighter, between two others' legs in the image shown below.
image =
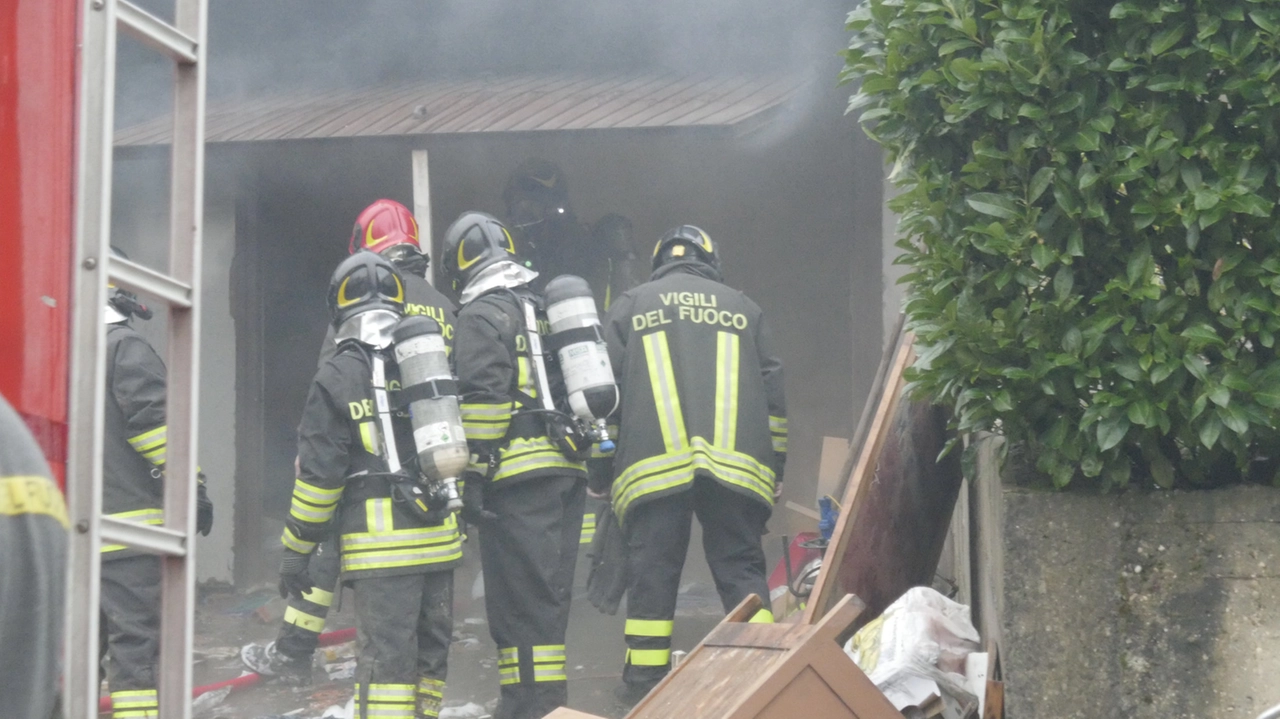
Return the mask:
<svg viewBox="0 0 1280 719">
<path fill-rule="evenodd" d="M 564 632 L 586 484 L 540 477 L 485 493 L 498 518 L 480 527 L 484 601 L 498 645 L 494 719 L 540 719 L 568 701 Z"/>
</svg>

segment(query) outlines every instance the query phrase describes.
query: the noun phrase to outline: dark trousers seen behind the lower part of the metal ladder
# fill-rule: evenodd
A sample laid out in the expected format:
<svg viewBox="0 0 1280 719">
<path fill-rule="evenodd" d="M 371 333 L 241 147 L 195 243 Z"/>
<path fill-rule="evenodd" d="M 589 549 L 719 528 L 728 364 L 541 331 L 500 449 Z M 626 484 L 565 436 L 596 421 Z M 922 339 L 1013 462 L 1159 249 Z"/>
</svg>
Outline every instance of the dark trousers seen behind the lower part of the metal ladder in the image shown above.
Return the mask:
<svg viewBox="0 0 1280 719">
<path fill-rule="evenodd" d="M 155 665 L 160 652 L 160 558 L 102 562 L 99 656 L 110 656 L 108 686 L 115 719 L 159 716 Z"/>
</svg>

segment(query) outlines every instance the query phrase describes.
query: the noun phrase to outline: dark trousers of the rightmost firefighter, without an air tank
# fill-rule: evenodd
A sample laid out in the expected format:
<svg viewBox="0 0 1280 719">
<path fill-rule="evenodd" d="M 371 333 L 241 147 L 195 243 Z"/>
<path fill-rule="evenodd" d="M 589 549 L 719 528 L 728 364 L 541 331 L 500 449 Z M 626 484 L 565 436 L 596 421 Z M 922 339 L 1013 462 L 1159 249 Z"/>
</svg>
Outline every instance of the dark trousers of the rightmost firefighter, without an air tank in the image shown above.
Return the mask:
<svg viewBox="0 0 1280 719">
<path fill-rule="evenodd" d="M 671 669 L 676 594 L 694 514 L 724 612 L 753 592 L 769 606 L 760 545 L 769 518 L 764 504 L 699 476 L 687 491 L 632 507 L 623 525 L 628 582 L 622 681 L 628 684 L 652 686 Z M 762 609 L 751 620 L 772 622 L 773 614 Z"/>
</svg>

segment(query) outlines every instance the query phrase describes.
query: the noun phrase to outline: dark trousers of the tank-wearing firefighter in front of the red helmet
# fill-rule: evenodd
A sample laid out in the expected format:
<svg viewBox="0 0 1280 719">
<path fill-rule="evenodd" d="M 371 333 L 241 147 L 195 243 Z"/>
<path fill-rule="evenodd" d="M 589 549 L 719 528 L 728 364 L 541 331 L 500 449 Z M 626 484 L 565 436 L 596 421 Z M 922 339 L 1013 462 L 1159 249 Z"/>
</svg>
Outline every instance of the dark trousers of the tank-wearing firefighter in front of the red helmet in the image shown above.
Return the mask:
<svg viewBox="0 0 1280 719">
<path fill-rule="evenodd" d="M 356 578 L 356 716 L 435 719 L 453 637 L 453 571 Z"/>
</svg>

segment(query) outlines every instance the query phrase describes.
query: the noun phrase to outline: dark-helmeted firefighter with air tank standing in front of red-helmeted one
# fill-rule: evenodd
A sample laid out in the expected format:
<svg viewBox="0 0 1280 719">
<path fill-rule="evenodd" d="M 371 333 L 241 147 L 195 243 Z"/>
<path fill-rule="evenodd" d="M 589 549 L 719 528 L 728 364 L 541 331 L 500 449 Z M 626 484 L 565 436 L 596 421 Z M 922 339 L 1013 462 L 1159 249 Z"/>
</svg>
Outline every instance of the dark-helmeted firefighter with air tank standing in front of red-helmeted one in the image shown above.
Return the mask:
<svg viewBox="0 0 1280 719">
<path fill-rule="evenodd" d="M 462 540 L 452 513 L 424 517 L 401 500 L 398 482 L 416 468 L 393 470 L 413 457 L 412 429 L 379 412 L 397 381 L 389 345 L 404 288 L 390 262 L 357 252 L 338 265 L 328 299 L 338 351 L 316 372 L 298 426 L 280 590 L 312 594 L 311 555 L 338 535 L 343 583 L 356 592 L 356 716 L 435 718 Z"/>
</svg>

